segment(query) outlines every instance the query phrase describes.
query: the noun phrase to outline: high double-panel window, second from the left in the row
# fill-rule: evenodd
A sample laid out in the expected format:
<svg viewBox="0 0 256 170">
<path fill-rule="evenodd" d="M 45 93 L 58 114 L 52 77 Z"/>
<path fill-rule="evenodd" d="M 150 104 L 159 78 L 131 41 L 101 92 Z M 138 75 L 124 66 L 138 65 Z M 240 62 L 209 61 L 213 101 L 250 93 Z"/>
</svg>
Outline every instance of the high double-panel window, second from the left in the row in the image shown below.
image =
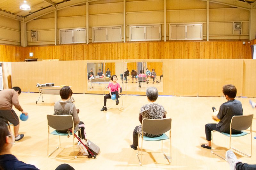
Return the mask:
<svg viewBox="0 0 256 170">
<path fill-rule="evenodd" d="M 93 28 L 92 42 L 118 42 L 122 41 L 121 26 Z"/>
</svg>

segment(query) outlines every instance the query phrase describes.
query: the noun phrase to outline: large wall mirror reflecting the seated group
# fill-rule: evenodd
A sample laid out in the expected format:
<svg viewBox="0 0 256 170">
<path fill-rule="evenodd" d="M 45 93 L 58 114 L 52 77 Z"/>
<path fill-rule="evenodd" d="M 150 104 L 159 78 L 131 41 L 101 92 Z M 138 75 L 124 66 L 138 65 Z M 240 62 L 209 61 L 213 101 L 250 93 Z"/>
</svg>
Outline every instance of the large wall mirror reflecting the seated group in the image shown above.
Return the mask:
<svg viewBox="0 0 256 170">
<path fill-rule="evenodd" d="M 111 76 L 116 75 L 124 92 L 145 92 L 149 86 L 163 92 L 162 62 L 106 60 L 102 63 L 87 63 L 87 73 L 89 91 L 108 91 Z"/>
</svg>

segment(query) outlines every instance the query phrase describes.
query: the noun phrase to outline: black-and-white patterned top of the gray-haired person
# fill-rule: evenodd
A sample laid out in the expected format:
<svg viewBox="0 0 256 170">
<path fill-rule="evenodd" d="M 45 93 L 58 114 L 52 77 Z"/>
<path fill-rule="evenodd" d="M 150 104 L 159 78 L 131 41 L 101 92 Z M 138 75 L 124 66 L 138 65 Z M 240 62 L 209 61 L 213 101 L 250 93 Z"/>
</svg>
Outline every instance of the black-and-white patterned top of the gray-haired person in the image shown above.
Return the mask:
<svg viewBox="0 0 256 170">
<path fill-rule="evenodd" d="M 164 110 L 164 107 L 158 103 L 148 103 L 140 108 L 140 115 L 142 119 L 162 119 L 167 112 Z M 141 125 L 139 126 L 137 132 L 141 134 Z M 159 137 L 159 135 L 152 135 L 146 132 L 143 132 L 146 137 Z"/>
</svg>

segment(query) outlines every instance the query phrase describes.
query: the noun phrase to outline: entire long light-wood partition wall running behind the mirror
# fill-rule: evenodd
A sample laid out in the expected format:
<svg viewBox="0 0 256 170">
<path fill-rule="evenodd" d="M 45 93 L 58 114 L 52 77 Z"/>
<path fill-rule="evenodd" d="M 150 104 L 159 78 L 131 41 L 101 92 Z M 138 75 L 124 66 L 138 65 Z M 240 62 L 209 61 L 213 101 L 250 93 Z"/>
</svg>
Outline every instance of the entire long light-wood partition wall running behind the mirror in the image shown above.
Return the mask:
<svg viewBox="0 0 256 170">
<path fill-rule="evenodd" d="M 132 60 L 124 60 L 130 62 Z M 138 62 L 139 60 L 134 60 Z M 153 60 L 144 60 L 153 62 Z M 159 62 L 160 60 L 156 60 Z M 90 61 L 92 62 L 92 61 Z M 93 61 L 96 62 L 97 61 Z M 102 62 L 102 61 L 101 61 Z M 115 60 L 111 60 L 115 62 Z M 120 62 L 120 60 L 116 60 Z M 132 63 L 131 63 L 132 64 Z M 256 97 L 256 60 L 164 59 L 163 95 L 223 96 L 222 86 L 234 84 L 237 96 Z M 106 93 L 87 89 L 87 61 L 13 62 L 12 86 L 38 92 L 36 83 L 70 85 L 74 93 Z M 145 92 L 125 92 L 145 94 Z M 124 93 L 124 94 L 125 94 Z"/>
</svg>

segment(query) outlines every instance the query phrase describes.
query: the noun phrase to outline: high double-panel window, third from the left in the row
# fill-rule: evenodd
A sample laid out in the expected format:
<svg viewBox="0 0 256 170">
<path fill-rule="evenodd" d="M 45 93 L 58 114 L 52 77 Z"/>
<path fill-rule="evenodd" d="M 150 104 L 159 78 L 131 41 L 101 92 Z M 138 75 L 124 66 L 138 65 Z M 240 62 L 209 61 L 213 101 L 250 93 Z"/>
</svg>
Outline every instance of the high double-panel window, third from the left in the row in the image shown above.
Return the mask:
<svg viewBox="0 0 256 170">
<path fill-rule="evenodd" d="M 161 40 L 161 25 L 130 26 L 130 41 Z"/>
</svg>

